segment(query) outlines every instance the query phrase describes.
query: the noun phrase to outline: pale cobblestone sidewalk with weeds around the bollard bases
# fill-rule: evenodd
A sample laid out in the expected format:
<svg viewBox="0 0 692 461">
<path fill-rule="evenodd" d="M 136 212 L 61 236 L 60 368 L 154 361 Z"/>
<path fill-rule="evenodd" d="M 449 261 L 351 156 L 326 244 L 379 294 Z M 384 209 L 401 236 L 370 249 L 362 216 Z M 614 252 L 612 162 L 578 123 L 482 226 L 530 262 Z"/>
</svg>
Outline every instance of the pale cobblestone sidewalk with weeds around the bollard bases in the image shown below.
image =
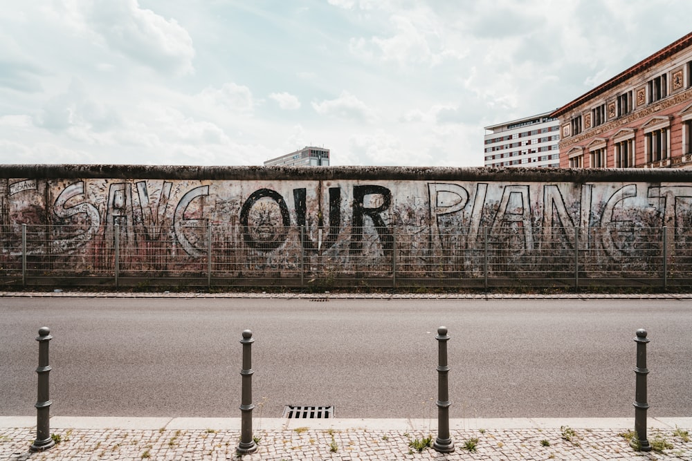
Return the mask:
<svg viewBox="0 0 692 461">
<path fill-rule="evenodd" d="M 650 431 L 655 447 L 650 453 L 632 450 L 612 429 L 451 431 L 455 451 L 441 454 L 424 447 L 428 433 L 298 427 L 255 431 L 258 450 L 242 458 L 235 453 L 239 431 L 58 429 L 53 434 L 60 439 L 53 449 L 29 453 L 35 431 L 0 429 L 0 460 L 692 460 L 692 440 L 682 429 Z"/>
</svg>

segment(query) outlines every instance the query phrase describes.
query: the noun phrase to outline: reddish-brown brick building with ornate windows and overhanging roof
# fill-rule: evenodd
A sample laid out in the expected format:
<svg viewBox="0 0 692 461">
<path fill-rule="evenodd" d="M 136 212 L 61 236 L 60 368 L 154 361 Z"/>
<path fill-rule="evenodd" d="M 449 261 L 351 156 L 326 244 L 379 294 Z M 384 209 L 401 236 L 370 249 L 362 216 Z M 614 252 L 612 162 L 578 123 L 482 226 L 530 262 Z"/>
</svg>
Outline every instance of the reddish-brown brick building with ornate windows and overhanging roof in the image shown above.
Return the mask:
<svg viewBox="0 0 692 461">
<path fill-rule="evenodd" d="M 561 167 L 692 167 L 692 33 L 551 116 Z"/>
</svg>

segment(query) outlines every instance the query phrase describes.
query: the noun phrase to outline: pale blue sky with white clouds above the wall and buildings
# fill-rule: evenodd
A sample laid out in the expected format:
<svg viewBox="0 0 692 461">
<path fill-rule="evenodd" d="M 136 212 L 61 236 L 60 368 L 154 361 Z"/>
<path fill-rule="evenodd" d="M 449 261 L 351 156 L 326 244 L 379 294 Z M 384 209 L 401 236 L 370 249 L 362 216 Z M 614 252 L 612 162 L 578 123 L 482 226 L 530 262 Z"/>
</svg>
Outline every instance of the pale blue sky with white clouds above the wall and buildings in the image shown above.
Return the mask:
<svg viewBox="0 0 692 461">
<path fill-rule="evenodd" d="M 689 0 L 0 0 L 0 162 L 475 167 L 692 30 Z"/>
</svg>

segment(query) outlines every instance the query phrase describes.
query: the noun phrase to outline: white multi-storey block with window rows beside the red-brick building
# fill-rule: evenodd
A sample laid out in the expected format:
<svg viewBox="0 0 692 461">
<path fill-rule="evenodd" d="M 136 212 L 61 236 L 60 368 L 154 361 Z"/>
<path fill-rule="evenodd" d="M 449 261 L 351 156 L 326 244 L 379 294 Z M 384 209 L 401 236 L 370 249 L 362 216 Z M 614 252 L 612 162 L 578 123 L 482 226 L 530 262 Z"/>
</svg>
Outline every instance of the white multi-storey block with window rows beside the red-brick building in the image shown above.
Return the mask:
<svg viewBox="0 0 692 461">
<path fill-rule="evenodd" d="M 486 126 L 486 167 L 559 167 L 560 120 L 551 112 Z"/>
</svg>

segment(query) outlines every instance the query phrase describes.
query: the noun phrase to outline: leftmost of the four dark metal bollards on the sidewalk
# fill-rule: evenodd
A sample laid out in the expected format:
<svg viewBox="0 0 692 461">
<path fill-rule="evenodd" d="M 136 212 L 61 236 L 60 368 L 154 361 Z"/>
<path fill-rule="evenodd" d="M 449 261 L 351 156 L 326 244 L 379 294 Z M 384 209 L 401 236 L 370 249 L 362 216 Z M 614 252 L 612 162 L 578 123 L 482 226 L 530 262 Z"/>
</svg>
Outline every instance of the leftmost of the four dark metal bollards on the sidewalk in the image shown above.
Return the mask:
<svg viewBox="0 0 692 461">
<path fill-rule="evenodd" d="M 51 438 L 51 399 L 49 386 L 49 373 L 51 366 L 48 364 L 48 341 L 51 341 L 51 329 L 44 326 L 39 329 L 39 367 L 36 368 L 38 379 L 38 399 L 36 407 L 36 440 L 29 447 L 29 451 L 46 451 L 55 446 Z"/>
</svg>

